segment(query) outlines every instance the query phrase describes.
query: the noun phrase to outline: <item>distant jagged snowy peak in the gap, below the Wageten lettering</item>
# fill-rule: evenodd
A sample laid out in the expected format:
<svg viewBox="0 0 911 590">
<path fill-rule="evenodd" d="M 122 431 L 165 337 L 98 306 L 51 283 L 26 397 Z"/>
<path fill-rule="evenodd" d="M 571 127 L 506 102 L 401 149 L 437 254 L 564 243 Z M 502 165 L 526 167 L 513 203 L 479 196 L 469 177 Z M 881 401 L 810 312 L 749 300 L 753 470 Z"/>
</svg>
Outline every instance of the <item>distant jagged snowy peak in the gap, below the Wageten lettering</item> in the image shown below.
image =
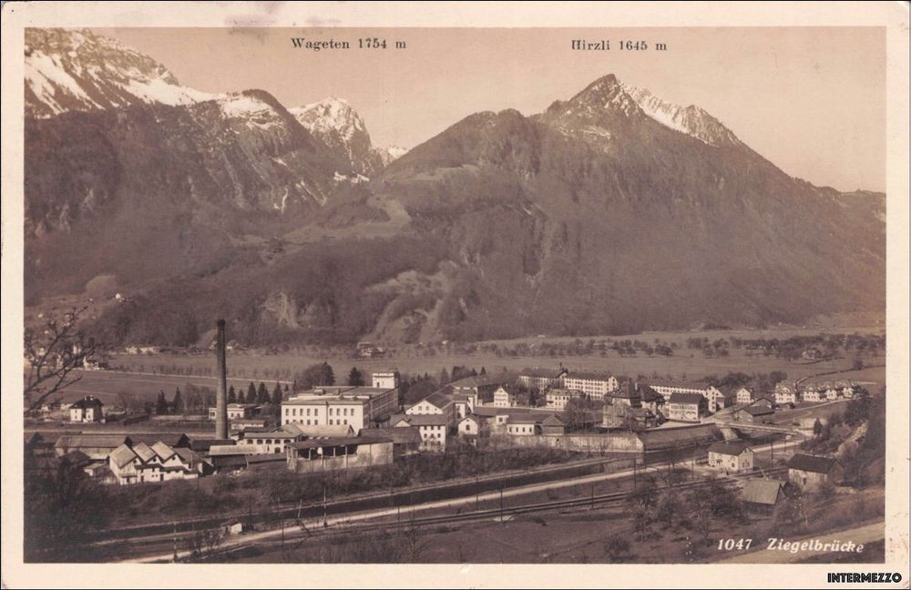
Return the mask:
<svg viewBox="0 0 911 590">
<path fill-rule="evenodd" d="M 363 118 L 343 98 L 328 97 L 288 110 L 303 127 L 307 127 L 315 137 L 351 162 L 352 168 L 366 177 L 374 176 L 408 151 L 396 147 L 374 147 Z"/>
</svg>

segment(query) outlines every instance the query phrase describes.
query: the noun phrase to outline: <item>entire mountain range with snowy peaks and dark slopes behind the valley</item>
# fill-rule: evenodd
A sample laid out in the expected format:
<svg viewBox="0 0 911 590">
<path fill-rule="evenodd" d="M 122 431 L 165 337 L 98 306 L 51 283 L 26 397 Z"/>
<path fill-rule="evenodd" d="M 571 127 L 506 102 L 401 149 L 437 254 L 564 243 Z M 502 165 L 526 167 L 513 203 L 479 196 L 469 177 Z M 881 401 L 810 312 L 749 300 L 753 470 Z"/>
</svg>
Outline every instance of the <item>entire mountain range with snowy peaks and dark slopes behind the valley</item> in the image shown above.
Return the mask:
<svg viewBox="0 0 911 590">
<path fill-rule="evenodd" d="M 403 155 L 342 99 L 201 95 L 102 37 L 33 41 L 26 300 L 103 277 L 129 300 L 98 320 L 108 341 L 188 344 L 219 314 L 262 344 L 885 307 L 885 196 L 791 178 L 700 107 L 615 76 Z M 142 90 L 162 85 L 166 100 Z"/>
</svg>

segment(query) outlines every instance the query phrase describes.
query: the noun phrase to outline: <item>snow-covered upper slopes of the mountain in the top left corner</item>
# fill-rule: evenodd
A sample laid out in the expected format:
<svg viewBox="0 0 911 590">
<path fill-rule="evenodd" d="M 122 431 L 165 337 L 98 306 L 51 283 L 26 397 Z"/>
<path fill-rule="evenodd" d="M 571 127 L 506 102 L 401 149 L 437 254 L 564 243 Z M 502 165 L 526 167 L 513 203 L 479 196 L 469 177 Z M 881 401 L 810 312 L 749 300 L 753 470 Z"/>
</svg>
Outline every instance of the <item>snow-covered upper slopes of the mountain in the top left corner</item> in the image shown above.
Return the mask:
<svg viewBox="0 0 911 590">
<path fill-rule="evenodd" d="M 88 30 L 26 29 L 26 116 L 217 98 L 181 86 L 165 66 Z"/>
</svg>

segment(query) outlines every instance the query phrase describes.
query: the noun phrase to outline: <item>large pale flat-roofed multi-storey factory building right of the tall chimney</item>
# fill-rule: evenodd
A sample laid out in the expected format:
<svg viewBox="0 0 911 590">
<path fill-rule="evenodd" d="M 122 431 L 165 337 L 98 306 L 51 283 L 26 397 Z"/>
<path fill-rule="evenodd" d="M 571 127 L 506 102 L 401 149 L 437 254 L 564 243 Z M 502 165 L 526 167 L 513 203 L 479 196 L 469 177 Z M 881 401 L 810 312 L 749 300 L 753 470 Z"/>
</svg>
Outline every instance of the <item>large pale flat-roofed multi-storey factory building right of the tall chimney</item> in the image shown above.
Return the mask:
<svg viewBox="0 0 911 590">
<path fill-rule="evenodd" d="M 354 432 L 379 425 L 398 407 L 398 390 L 325 386 L 281 403 L 282 424 L 351 426 Z"/>
</svg>

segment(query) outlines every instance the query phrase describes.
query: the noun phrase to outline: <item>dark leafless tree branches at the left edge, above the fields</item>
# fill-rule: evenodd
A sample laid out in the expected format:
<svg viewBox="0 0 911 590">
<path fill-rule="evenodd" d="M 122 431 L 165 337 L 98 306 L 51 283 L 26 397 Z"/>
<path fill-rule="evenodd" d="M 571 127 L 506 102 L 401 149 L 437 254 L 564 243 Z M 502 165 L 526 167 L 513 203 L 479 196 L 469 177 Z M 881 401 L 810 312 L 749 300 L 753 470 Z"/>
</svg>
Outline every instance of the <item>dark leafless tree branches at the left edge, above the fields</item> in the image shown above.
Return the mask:
<svg viewBox="0 0 911 590">
<path fill-rule="evenodd" d="M 74 307 L 60 317 L 48 314 L 41 328 L 26 328 L 26 412 L 34 412 L 47 398 L 82 379 L 73 371 L 99 352 L 94 339 L 78 328 L 85 310 Z"/>
</svg>

